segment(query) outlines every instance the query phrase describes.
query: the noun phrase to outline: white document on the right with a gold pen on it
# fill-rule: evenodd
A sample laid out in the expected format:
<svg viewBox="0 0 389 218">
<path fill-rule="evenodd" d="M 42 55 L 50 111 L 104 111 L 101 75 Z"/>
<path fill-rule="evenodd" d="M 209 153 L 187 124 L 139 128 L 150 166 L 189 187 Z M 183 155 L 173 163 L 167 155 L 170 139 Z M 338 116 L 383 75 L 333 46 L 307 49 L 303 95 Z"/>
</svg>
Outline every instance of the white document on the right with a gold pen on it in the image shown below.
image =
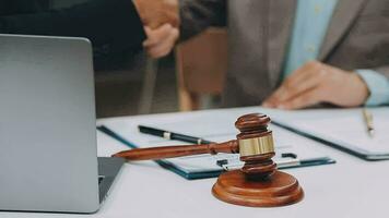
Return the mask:
<svg viewBox="0 0 389 218">
<path fill-rule="evenodd" d="M 389 107 L 369 108 L 375 134 L 369 135 L 363 109 L 313 109 L 278 116 L 274 121 L 326 141 L 365 159 L 389 159 Z"/>
</svg>

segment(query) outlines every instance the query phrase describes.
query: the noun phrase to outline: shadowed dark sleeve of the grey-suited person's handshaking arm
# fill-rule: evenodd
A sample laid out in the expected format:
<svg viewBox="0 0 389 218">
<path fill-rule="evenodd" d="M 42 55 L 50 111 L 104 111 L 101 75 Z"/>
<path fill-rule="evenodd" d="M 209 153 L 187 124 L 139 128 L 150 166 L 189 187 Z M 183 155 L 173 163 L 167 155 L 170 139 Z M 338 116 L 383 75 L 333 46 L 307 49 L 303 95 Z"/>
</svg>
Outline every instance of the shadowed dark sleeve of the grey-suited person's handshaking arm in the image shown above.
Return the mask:
<svg viewBox="0 0 389 218">
<path fill-rule="evenodd" d="M 209 26 L 225 26 L 227 0 L 180 0 L 180 33 L 186 40 Z"/>
</svg>

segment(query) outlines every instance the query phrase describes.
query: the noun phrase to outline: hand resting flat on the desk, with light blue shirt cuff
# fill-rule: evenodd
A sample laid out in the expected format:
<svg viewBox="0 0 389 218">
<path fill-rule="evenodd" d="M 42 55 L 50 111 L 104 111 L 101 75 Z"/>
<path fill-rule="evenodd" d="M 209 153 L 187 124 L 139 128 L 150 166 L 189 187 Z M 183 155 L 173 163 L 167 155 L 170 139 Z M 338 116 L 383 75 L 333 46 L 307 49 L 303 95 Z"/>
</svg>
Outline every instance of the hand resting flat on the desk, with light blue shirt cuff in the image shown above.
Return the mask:
<svg viewBox="0 0 389 218">
<path fill-rule="evenodd" d="M 262 106 L 290 110 L 319 102 L 356 107 L 368 95 L 366 83 L 356 73 L 311 61 L 288 76 Z"/>
</svg>

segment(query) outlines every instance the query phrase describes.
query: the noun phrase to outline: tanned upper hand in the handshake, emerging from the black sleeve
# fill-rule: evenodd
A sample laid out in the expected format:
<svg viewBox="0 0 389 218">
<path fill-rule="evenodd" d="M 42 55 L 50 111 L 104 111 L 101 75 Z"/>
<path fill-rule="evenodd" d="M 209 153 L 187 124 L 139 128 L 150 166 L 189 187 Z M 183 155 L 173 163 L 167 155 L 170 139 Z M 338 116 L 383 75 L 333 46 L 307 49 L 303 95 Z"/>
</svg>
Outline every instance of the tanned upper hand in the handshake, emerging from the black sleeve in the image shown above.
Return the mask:
<svg viewBox="0 0 389 218">
<path fill-rule="evenodd" d="M 178 0 L 133 0 L 144 26 L 156 28 L 165 23 L 179 26 Z"/>
</svg>

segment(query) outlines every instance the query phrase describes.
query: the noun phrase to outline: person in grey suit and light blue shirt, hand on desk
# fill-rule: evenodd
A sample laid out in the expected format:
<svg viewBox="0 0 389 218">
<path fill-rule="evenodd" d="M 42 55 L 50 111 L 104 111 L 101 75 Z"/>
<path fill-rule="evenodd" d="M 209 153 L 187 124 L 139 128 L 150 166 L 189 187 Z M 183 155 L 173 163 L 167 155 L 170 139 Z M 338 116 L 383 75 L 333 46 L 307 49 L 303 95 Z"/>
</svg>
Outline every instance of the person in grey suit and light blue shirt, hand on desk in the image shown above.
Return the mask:
<svg viewBox="0 0 389 218">
<path fill-rule="evenodd" d="M 389 102 L 389 0 L 181 0 L 180 21 L 227 26 L 226 107 Z"/>
</svg>

